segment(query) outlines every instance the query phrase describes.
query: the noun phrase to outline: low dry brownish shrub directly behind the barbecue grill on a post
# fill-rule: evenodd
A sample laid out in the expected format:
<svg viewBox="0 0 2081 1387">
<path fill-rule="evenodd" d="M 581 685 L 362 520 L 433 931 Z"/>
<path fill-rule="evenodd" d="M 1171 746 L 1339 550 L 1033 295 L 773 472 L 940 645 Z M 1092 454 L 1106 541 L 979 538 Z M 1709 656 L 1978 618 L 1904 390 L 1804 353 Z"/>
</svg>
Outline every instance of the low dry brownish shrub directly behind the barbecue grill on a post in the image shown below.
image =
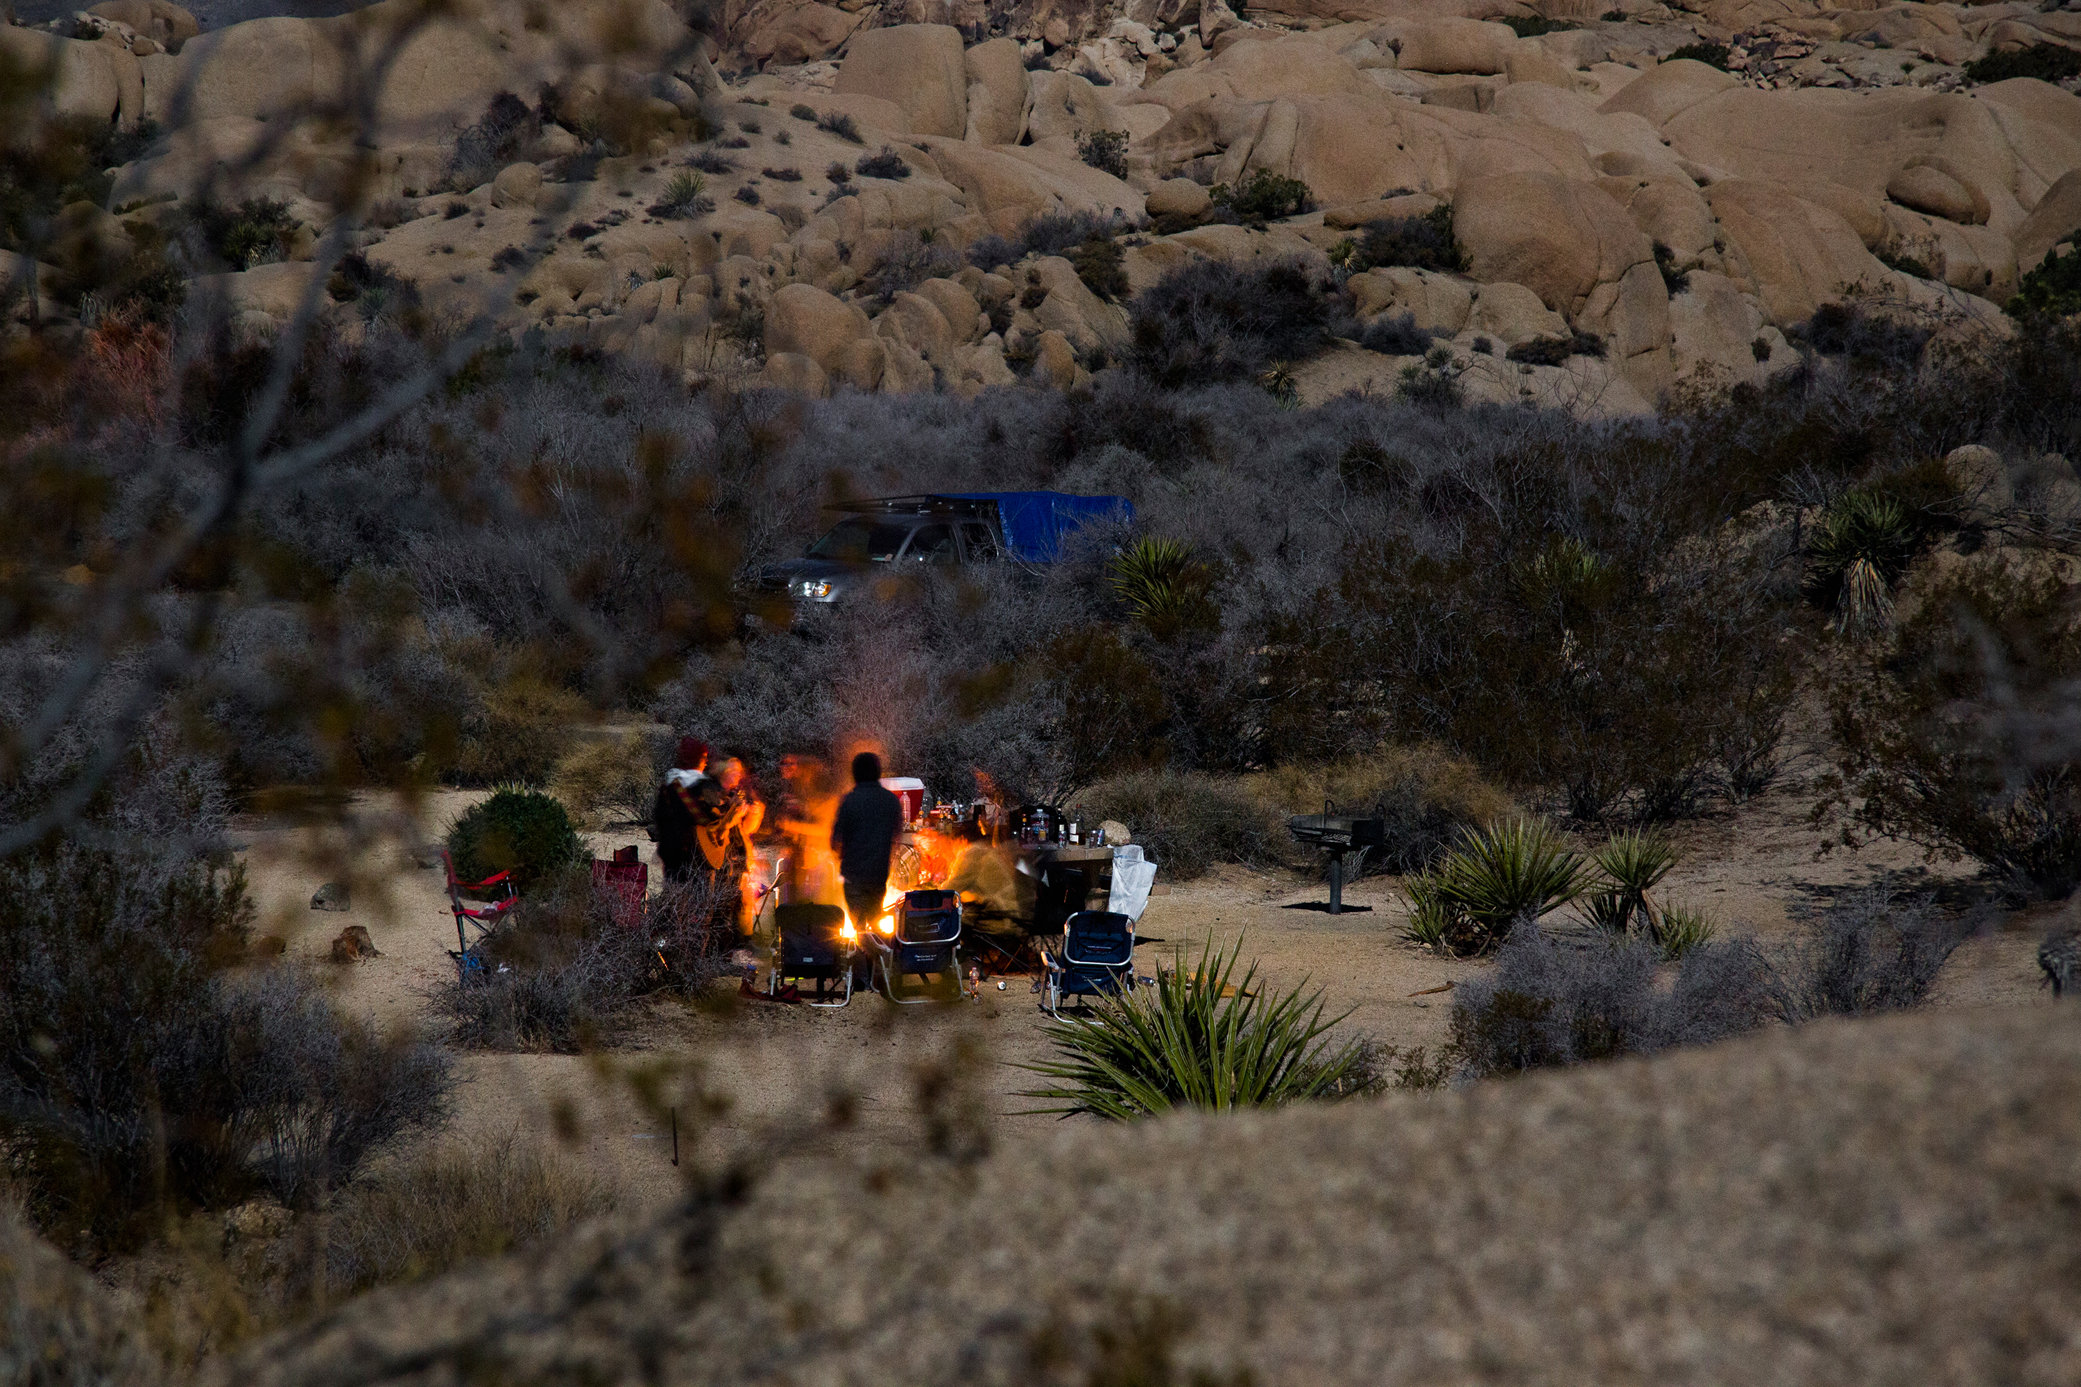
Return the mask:
<svg viewBox="0 0 2081 1387">
<path fill-rule="evenodd" d="M 1384 848 L 1365 865 L 1403 873 L 1430 865 L 1463 828 L 1488 828 L 1511 817 L 1511 796 L 1482 778 L 1465 757 L 1436 744 L 1388 747 L 1346 761 L 1282 765 L 1244 784 L 1280 813 L 1380 809 L 1388 821 Z"/>
</svg>

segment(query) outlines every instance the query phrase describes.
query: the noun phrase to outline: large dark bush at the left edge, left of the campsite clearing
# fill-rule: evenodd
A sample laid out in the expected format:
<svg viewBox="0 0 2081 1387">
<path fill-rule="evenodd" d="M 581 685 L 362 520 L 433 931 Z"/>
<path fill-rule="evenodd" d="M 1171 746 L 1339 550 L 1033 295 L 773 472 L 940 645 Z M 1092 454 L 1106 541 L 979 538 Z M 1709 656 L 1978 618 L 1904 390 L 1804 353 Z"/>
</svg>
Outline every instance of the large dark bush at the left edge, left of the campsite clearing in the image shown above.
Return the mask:
<svg viewBox="0 0 2081 1387">
<path fill-rule="evenodd" d="M 437 1125 L 439 1050 L 256 977 L 239 869 L 177 840 L 52 840 L 0 861 L 0 1158 L 60 1241 L 127 1248 L 189 1208 L 310 1206 Z"/>
</svg>

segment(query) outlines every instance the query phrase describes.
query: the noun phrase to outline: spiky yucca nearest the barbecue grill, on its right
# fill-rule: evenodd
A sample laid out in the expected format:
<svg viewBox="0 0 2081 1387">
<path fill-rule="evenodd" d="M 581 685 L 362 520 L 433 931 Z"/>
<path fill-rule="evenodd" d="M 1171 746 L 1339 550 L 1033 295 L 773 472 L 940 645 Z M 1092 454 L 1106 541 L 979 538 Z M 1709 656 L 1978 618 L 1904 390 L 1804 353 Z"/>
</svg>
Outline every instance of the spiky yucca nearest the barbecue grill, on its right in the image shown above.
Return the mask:
<svg viewBox="0 0 2081 1387">
<path fill-rule="evenodd" d="M 1419 880 L 1405 932 L 1411 938 L 1432 934 L 1467 957 L 1502 942 L 1517 921 L 1575 900 L 1596 878 L 1550 823 L 1513 819 L 1463 830 L 1459 846 Z"/>
</svg>

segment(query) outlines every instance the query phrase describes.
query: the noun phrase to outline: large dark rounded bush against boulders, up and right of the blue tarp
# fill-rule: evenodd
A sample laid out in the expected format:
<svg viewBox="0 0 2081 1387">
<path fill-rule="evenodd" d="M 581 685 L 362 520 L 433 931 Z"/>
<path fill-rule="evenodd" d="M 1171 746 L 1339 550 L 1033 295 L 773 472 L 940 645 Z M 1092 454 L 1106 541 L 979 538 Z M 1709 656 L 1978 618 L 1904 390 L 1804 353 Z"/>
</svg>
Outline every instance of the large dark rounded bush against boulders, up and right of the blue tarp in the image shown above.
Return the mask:
<svg viewBox="0 0 2081 1387">
<path fill-rule="evenodd" d="M 1299 262 L 1194 260 L 1134 295 L 1130 362 L 1159 385 L 1253 381 L 1328 341 L 1328 304 Z"/>
</svg>

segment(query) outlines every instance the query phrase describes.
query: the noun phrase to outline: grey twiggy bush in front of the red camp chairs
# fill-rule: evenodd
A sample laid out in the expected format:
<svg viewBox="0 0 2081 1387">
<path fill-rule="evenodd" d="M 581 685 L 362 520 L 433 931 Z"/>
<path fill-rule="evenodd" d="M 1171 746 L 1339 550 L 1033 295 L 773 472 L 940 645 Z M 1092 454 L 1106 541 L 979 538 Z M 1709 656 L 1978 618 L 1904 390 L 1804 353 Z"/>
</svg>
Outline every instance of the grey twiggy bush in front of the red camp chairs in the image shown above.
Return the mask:
<svg viewBox="0 0 2081 1387">
<path fill-rule="evenodd" d="M 508 911 L 479 942 L 483 969 L 433 988 L 466 1046 L 579 1052 L 612 1042 L 633 1009 L 660 992 L 695 996 L 735 944 L 708 882 L 668 882 L 620 919 L 591 875 L 566 869 Z"/>
</svg>

